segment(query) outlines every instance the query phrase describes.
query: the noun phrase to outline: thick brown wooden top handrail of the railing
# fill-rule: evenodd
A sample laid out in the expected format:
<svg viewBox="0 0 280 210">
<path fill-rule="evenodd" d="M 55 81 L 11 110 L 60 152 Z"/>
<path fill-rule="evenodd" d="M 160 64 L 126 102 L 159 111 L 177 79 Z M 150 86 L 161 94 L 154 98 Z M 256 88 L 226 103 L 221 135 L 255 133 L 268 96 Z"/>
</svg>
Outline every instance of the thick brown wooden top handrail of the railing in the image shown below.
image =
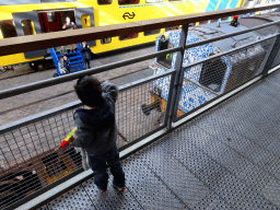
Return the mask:
<svg viewBox="0 0 280 210">
<path fill-rule="evenodd" d="M 114 36 L 122 36 L 131 33 L 171 27 L 176 25 L 184 25 L 188 23 L 201 22 L 223 16 L 232 16 L 256 11 L 269 10 L 279 7 L 280 4 L 272 4 L 250 9 L 226 9 L 212 12 L 201 12 L 196 14 L 186 14 L 164 19 L 124 23 L 117 25 L 106 25 L 98 27 L 72 30 L 67 32 L 54 32 L 46 34 L 4 38 L 0 40 L 0 56 L 32 51 L 42 48 L 57 47 L 61 45 L 81 43 L 84 40 L 95 40 Z"/>
</svg>

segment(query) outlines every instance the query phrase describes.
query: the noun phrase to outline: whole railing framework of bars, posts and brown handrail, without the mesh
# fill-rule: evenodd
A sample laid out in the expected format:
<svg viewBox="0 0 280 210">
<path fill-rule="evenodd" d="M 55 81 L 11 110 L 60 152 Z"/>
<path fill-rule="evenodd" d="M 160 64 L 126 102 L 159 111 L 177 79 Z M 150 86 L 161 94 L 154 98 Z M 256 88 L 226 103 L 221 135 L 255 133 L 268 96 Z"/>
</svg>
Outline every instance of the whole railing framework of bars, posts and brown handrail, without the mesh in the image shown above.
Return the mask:
<svg viewBox="0 0 280 210">
<path fill-rule="evenodd" d="M 22 94 L 22 93 L 31 92 L 31 91 L 34 91 L 34 90 L 39 90 L 39 89 L 43 89 L 43 88 L 46 88 L 46 86 L 50 86 L 50 85 L 68 82 L 68 81 L 71 81 L 71 80 L 75 80 L 75 79 L 80 78 L 81 75 L 85 75 L 85 74 L 89 74 L 89 73 L 90 74 L 93 74 L 93 73 L 95 74 L 95 73 L 112 70 L 112 69 L 115 69 L 115 68 L 118 68 L 118 67 L 128 66 L 128 65 L 131 65 L 131 63 L 135 63 L 135 62 L 147 60 L 147 59 L 150 59 L 150 58 L 155 58 L 160 55 L 165 55 L 165 54 L 168 54 L 168 52 L 177 52 L 177 51 L 184 52 L 185 49 L 188 49 L 188 48 L 191 48 L 191 47 L 196 47 L 196 46 L 203 45 L 203 44 L 211 43 L 211 42 L 215 42 L 215 40 L 221 40 L 221 39 L 224 39 L 224 38 L 228 38 L 228 37 L 232 37 L 234 35 L 245 34 L 245 33 L 256 31 L 256 30 L 259 30 L 259 28 L 262 28 L 262 27 L 267 27 L 267 26 L 270 26 L 270 25 L 278 24 L 278 23 L 280 23 L 280 21 L 264 24 L 264 25 L 257 26 L 257 27 L 252 27 L 249 30 L 245 30 L 245 31 L 242 31 L 242 32 L 232 33 L 232 34 L 228 34 L 228 35 L 224 35 L 224 36 L 220 36 L 220 37 L 198 42 L 198 43 L 195 43 L 195 44 L 189 44 L 189 45 L 185 45 L 184 42 L 183 42 L 184 39 L 186 42 L 188 23 L 199 22 L 199 21 L 205 21 L 205 20 L 210 20 L 210 19 L 217 19 L 217 18 L 222 18 L 222 16 L 230 16 L 230 15 L 233 15 L 233 14 L 235 15 L 235 14 L 243 14 L 243 13 L 249 13 L 249 12 L 255 12 L 255 11 L 268 10 L 268 9 L 273 9 L 273 8 L 278 8 L 278 7 L 280 7 L 280 4 L 273 4 L 273 5 L 268 5 L 268 7 L 259 7 L 259 8 L 254 8 L 254 9 L 243 9 L 243 8 L 242 9 L 231 9 L 231 10 L 214 11 L 214 12 L 207 12 L 207 13 L 199 13 L 199 14 L 182 15 L 182 16 L 175 16 L 175 18 L 166 18 L 166 19 L 162 19 L 162 20 L 153 20 L 153 21 L 150 21 L 150 22 L 149 21 L 143 21 L 143 22 L 129 23 L 129 24 L 112 25 L 112 26 L 106 26 L 106 28 L 105 27 L 93 27 L 93 28 L 71 31 L 71 32 L 67 32 L 67 33 L 61 32 L 61 33 L 56 33 L 55 35 L 50 35 L 50 34 L 44 35 L 43 34 L 43 35 L 36 35 L 36 36 L 32 35 L 32 36 L 26 36 L 26 37 L 9 38 L 9 40 L 8 39 L 0 40 L 0 49 L 2 49 L 2 50 L 0 50 L 0 56 L 3 56 L 3 55 L 8 55 L 8 54 L 27 51 L 27 49 L 28 50 L 35 50 L 35 49 L 38 49 L 38 47 L 39 48 L 47 48 L 50 45 L 51 46 L 54 46 L 54 45 L 58 46 L 58 45 L 61 45 L 61 44 L 67 45 L 67 44 L 71 44 L 74 38 L 77 38 L 77 39 L 74 39 L 74 42 L 77 43 L 77 42 L 80 42 L 80 40 L 86 40 L 89 37 L 100 39 L 100 38 L 106 38 L 106 37 L 116 36 L 116 35 L 120 36 L 120 35 L 124 35 L 124 34 L 129 34 L 131 32 L 142 32 L 142 31 L 149 31 L 149 30 L 156 30 L 156 28 L 161 28 L 163 26 L 166 27 L 166 26 L 174 26 L 174 25 L 184 25 L 183 26 L 183 33 L 182 33 L 183 36 L 180 37 L 182 42 L 180 42 L 179 47 L 162 50 L 160 52 L 154 52 L 154 54 L 150 54 L 150 55 L 132 58 L 132 59 L 127 59 L 127 60 L 114 62 L 114 63 L 110 63 L 110 65 L 105 65 L 105 66 L 102 66 L 102 67 L 98 67 L 98 68 L 92 68 L 92 69 L 83 71 L 83 72 L 78 72 L 78 73 L 65 75 L 65 77 L 61 77 L 61 78 L 49 79 L 49 80 L 33 83 L 33 84 L 1 91 L 0 92 L 0 100 L 7 98 L 7 97 L 10 97 L 10 96 L 14 96 L 14 95 L 19 95 L 19 94 Z M 183 39 L 184 36 L 185 36 L 185 38 Z M 179 90 L 180 90 L 179 88 L 182 86 L 183 77 L 184 77 L 184 73 L 182 73 L 182 72 L 184 72 L 184 70 L 186 68 L 190 68 L 192 66 L 202 63 L 202 62 L 205 62 L 207 60 L 210 60 L 210 59 L 214 59 L 214 58 L 225 56 L 225 55 L 231 54 L 233 51 L 237 51 L 240 49 L 249 47 L 252 45 L 256 45 L 257 43 L 260 43 L 260 42 L 273 38 L 273 37 L 277 37 L 273 40 L 273 44 L 277 44 L 277 46 L 272 44 L 273 47 L 270 47 L 269 52 L 266 55 L 266 58 L 262 61 L 261 68 L 258 71 L 258 72 L 261 71 L 262 75 L 267 75 L 269 73 L 268 70 L 271 68 L 271 65 L 272 65 L 272 62 L 275 60 L 275 57 L 277 55 L 277 51 L 278 51 L 278 44 L 280 42 L 280 35 L 279 34 L 267 37 L 267 38 L 264 38 L 264 39 L 255 42 L 255 43 L 250 43 L 248 45 L 244 45 L 242 47 L 234 48 L 232 50 L 229 50 L 229 51 L 225 51 L 225 52 L 222 52 L 222 54 L 218 54 L 215 56 L 211 56 L 210 58 L 202 59 L 202 60 L 199 60 L 197 62 L 192 62 L 192 63 L 188 65 L 187 67 L 182 67 L 183 58 L 179 58 L 178 57 L 179 54 L 177 54 L 178 58 L 176 60 L 176 70 L 175 71 L 167 71 L 167 72 L 162 73 L 162 74 L 152 75 L 152 77 L 139 80 L 137 82 L 132 82 L 132 83 L 120 86 L 119 90 L 121 92 L 121 91 L 126 91 L 126 90 L 129 90 L 131 88 L 138 86 L 140 84 L 148 83 L 148 82 L 153 81 L 158 78 L 162 78 L 162 77 L 165 77 L 165 75 L 171 75 L 172 83 L 171 83 L 171 86 L 170 86 L 170 95 L 173 95 L 175 97 L 175 102 L 173 100 L 171 100 L 171 97 L 168 100 L 163 126 L 153 130 L 152 132 L 148 133 L 148 136 L 143 136 L 143 137 L 139 138 L 138 140 L 136 140 L 133 142 L 133 144 L 131 144 L 131 147 L 124 148 L 120 151 L 121 159 L 124 159 L 125 156 L 133 153 L 135 151 L 140 150 L 141 148 L 145 147 L 147 144 L 150 144 L 151 142 L 155 141 L 156 139 L 161 138 L 162 136 L 165 136 L 166 133 L 173 131 L 176 127 L 182 126 L 183 124 L 185 124 L 186 121 L 189 120 L 190 115 L 191 115 L 191 117 L 196 117 L 196 116 L 202 114 L 203 112 L 212 108 L 213 106 L 217 105 L 217 104 L 214 104 L 214 105 L 209 106 L 211 103 L 213 103 L 213 101 L 220 101 L 219 103 L 221 103 L 221 102 L 230 98 L 231 96 L 233 96 L 237 92 L 240 92 L 240 91 L 248 88 L 249 85 L 256 83 L 257 81 L 259 81 L 262 78 L 261 75 L 257 75 L 256 78 L 252 79 L 249 82 L 247 82 L 244 85 L 237 88 L 236 90 L 231 91 L 230 93 L 226 93 L 224 95 L 220 95 L 218 98 L 214 98 L 213 101 L 210 101 L 209 103 L 206 103 L 203 106 L 200 106 L 198 109 L 200 109 L 200 110 L 202 109 L 201 112 L 196 109 L 191 113 L 188 113 L 187 115 L 182 116 L 177 120 L 174 120 L 175 119 L 174 114 L 176 114 L 176 108 L 177 108 L 177 104 L 178 104 L 178 96 L 179 96 L 178 94 L 179 94 Z M 63 40 L 63 42 L 61 42 L 61 40 Z M 25 47 L 23 47 L 24 45 L 25 45 Z M 27 48 L 26 48 L 26 46 L 27 46 Z M 176 75 L 175 75 L 175 73 L 176 73 Z M 229 96 L 226 96 L 226 95 L 229 95 Z M 173 104 L 171 102 L 173 102 Z M 7 131 L 10 131 L 10 130 L 16 129 L 16 128 L 22 127 L 24 125 L 28 125 L 28 124 L 37 121 L 39 119 L 44 119 L 46 117 L 50 117 L 50 116 L 60 114 L 65 110 L 72 109 L 72 108 L 79 107 L 82 104 L 79 101 L 70 103 L 70 104 L 66 104 L 63 106 L 60 106 L 60 107 L 57 107 L 57 108 L 54 108 L 54 109 L 34 115 L 34 116 L 31 116 L 31 117 L 27 117 L 27 118 L 24 118 L 24 119 L 21 119 L 21 120 L 18 120 L 18 121 L 4 125 L 4 126 L 1 126 L 0 127 L 0 132 L 7 132 Z M 192 114 L 196 113 L 196 112 L 197 112 L 197 114 L 192 116 Z M 175 124 L 173 124 L 173 122 L 175 122 Z M 73 176 L 75 176 L 75 177 L 73 177 Z M 45 201 L 48 200 L 48 199 L 51 199 L 52 197 L 55 197 L 59 194 L 62 194 L 63 191 L 72 188 L 73 186 L 75 186 L 78 183 L 80 183 L 80 182 L 82 182 L 86 178 L 90 178 L 90 177 L 92 177 L 92 173 L 80 172 L 79 171 L 77 174 L 73 173 L 69 176 L 66 176 L 66 178 L 61 178 L 61 180 L 55 183 L 56 185 L 59 185 L 57 187 L 60 188 L 60 190 L 55 190 L 56 194 L 51 194 L 51 196 L 45 197 Z M 61 185 L 63 185 L 63 182 L 66 179 L 71 179 L 71 178 L 75 179 L 75 182 L 74 183 L 72 182 L 69 185 L 66 185 L 65 187 L 61 187 Z M 48 186 L 48 188 L 51 188 L 51 187 L 52 186 Z M 44 192 L 45 189 L 47 189 L 47 188 L 44 188 L 44 189 L 42 189 L 42 191 L 39 190 L 38 192 L 42 194 L 42 192 Z M 52 190 L 52 189 L 49 189 L 49 190 Z M 13 203 L 9 208 L 16 208 L 16 207 L 20 207 L 20 206 L 23 207 L 27 203 L 30 203 L 28 208 L 37 208 L 40 205 L 43 205 L 45 201 L 42 201 L 42 200 L 36 201 L 36 198 L 35 198 L 36 195 L 37 194 L 35 192 L 32 196 L 27 196 L 26 199 L 24 198 L 24 199 L 22 199 L 18 202 Z M 43 195 L 40 195 L 40 196 L 43 196 Z M 44 194 L 44 196 L 46 196 L 46 195 Z M 31 200 L 33 198 L 35 198 L 35 199 Z"/>
</svg>

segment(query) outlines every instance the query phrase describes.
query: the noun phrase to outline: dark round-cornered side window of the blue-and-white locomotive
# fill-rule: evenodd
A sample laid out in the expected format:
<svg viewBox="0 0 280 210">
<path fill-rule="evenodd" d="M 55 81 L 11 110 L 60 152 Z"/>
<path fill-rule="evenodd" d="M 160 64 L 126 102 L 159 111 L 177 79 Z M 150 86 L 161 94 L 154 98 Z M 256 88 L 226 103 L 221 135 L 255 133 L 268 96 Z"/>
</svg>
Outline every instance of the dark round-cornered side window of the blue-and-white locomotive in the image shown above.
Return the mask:
<svg viewBox="0 0 280 210">
<path fill-rule="evenodd" d="M 214 92 L 219 92 L 225 71 L 226 65 L 220 58 L 208 60 L 202 65 L 199 83 Z"/>
</svg>

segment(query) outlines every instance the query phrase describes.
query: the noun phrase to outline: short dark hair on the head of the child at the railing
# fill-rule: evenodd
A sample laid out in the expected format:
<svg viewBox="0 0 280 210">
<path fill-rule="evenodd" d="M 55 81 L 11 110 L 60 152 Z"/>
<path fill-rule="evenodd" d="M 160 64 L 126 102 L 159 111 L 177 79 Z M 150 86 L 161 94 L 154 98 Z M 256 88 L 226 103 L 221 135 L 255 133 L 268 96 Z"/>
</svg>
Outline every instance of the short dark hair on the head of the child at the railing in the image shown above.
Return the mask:
<svg viewBox="0 0 280 210">
<path fill-rule="evenodd" d="M 98 107 L 104 103 L 101 82 L 91 75 L 84 75 L 77 81 L 74 91 L 81 102 L 90 107 Z"/>
</svg>

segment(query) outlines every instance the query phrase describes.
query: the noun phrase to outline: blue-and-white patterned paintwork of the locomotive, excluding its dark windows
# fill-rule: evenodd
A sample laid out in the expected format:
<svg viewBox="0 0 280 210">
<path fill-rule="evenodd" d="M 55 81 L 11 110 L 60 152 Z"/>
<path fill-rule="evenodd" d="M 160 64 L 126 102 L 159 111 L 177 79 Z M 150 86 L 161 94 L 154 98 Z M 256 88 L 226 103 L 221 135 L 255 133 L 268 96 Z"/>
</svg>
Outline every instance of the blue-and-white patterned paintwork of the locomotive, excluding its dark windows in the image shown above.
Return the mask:
<svg viewBox="0 0 280 210">
<path fill-rule="evenodd" d="M 244 26 L 242 26 L 242 28 L 236 28 L 233 26 L 228 26 L 228 24 L 229 23 L 226 23 L 226 25 L 225 25 L 225 23 L 223 23 L 223 25 L 224 25 L 223 30 L 222 30 L 222 27 L 213 26 L 213 25 L 217 25 L 217 23 L 208 24 L 203 27 L 192 28 L 192 31 L 190 31 L 187 35 L 187 44 L 201 42 L 201 40 L 206 39 L 206 36 L 210 36 L 209 38 L 212 38 L 214 36 L 224 35 L 228 33 L 233 33 L 233 32 L 237 32 L 240 30 L 245 28 Z M 211 25 L 211 26 L 209 26 L 209 25 Z M 217 27 L 217 30 L 215 30 L 215 27 Z M 180 31 L 166 32 L 166 33 L 164 33 L 164 35 L 166 37 L 168 37 L 168 43 L 172 44 L 173 47 L 178 47 Z M 244 39 L 245 36 L 248 38 Z M 159 43 L 160 43 L 161 37 L 162 37 L 162 35 L 160 35 L 155 42 L 156 51 L 160 49 Z M 234 44 L 236 40 L 240 46 L 240 45 L 245 45 L 250 42 L 257 40 L 257 38 L 258 38 L 258 36 L 254 33 L 229 38 L 230 42 L 229 42 L 229 45 L 226 45 L 228 49 L 225 49 L 225 48 L 221 49 L 219 47 L 220 45 L 218 45 L 218 43 L 223 44 L 224 42 L 222 42 L 222 40 L 200 45 L 200 46 L 197 46 L 194 48 L 189 48 L 189 49 L 185 50 L 183 67 L 186 67 L 187 65 L 189 65 L 191 62 L 208 58 L 210 56 L 210 54 L 212 54 L 212 52 L 226 51 L 229 49 L 232 49 L 235 47 L 232 44 Z M 256 51 L 256 54 L 260 54 L 261 50 L 264 50 L 264 49 L 260 47 L 260 48 L 256 48 L 255 51 Z M 243 59 L 242 56 L 243 55 L 241 55 L 241 59 Z M 175 69 L 176 57 L 177 57 L 177 52 L 174 52 L 173 57 L 172 57 L 172 65 L 170 68 L 171 70 Z M 232 63 L 235 63 L 235 61 L 230 60 L 230 59 L 231 58 L 228 56 L 223 56 L 220 58 L 220 61 L 226 66 L 226 69 L 225 69 L 225 73 L 223 75 L 222 84 L 221 84 L 219 91 L 212 91 L 212 90 L 208 89 L 207 86 L 203 88 L 203 85 L 201 85 L 201 83 L 199 82 L 200 73 L 202 70 L 202 65 L 197 65 L 191 68 L 185 69 L 184 82 L 183 82 L 182 93 L 180 93 L 180 97 L 179 97 L 178 108 L 180 110 L 183 110 L 184 113 L 188 113 L 191 109 L 199 107 L 200 105 L 205 104 L 206 102 L 214 98 L 217 95 L 223 94 L 225 91 L 226 84 L 228 84 L 229 77 L 232 71 Z M 159 63 L 158 58 L 155 58 L 155 63 Z M 164 68 L 160 63 L 156 65 L 155 73 L 158 74 L 158 73 L 162 73 L 162 72 L 166 72 L 166 68 Z M 159 94 L 162 98 L 167 101 L 168 94 L 170 94 L 170 85 L 171 85 L 171 75 L 161 78 L 153 82 L 153 90 L 158 90 L 158 93 L 155 91 L 154 91 L 154 93 Z"/>
</svg>

